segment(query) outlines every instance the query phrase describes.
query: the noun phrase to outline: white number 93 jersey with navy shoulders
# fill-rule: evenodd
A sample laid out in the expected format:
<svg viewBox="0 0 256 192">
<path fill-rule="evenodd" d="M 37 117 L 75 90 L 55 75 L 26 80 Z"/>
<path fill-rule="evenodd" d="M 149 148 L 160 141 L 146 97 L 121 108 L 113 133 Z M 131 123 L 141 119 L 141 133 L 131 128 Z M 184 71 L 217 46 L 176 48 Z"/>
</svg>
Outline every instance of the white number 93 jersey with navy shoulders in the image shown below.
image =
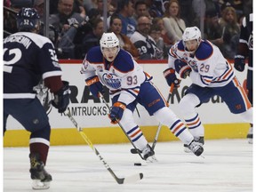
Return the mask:
<svg viewBox="0 0 256 192">
<path fill-rule="evenodd" d="M 150 79 L 129 52 L 121 49 L 116 59 L 109 62 L 103 57 L 100 46 L 93 47 L 87 52 L 82 73 L 85 79 L 99 76 L 101 84 L 108 87 L 110 94 L 120 94 L 118 100 L 126 104 L 136 99 L 140 92 L 140 84 Z"/>
</svg>

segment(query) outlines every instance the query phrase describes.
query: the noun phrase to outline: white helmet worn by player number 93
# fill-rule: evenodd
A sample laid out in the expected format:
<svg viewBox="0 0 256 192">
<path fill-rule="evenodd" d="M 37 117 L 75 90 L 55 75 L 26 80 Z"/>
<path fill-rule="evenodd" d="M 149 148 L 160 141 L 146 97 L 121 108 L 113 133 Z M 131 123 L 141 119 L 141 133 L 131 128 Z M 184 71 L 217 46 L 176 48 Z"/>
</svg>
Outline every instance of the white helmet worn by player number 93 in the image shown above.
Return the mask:
<svg viewBox="0 0 256 192">
<path fill-rule="evenodd" d="M 103 51 L 103 48 L 110 48 L 110 47 L 116 47 L 118 46 L 118 52 L 120 50 L 119 46 L 119 39 L 115 35 L 115 33 L 103 33 L 103 35 L 100 38 L 100 50 Z"/>
</svg>

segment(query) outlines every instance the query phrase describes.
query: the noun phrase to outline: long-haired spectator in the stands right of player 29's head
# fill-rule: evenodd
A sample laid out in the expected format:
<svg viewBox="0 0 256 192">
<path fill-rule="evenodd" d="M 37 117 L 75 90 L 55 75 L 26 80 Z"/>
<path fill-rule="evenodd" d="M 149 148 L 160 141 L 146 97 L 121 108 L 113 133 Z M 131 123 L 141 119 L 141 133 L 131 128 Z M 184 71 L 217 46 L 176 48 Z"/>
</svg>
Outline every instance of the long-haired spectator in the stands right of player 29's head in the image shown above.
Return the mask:
<svg viewBox="0 0 256 192">
<path fill-rule="evenodd" d="M 222 29 L 223 44 L 220 51 L 227 59 L 233 59 L 236 54 L 236 47 L 239 42 L 240 26 L 236 18 L 236 10 L 232 6 L 227 6 L 222 11 L 220 18 L 220 26 Z"/>
</svg>

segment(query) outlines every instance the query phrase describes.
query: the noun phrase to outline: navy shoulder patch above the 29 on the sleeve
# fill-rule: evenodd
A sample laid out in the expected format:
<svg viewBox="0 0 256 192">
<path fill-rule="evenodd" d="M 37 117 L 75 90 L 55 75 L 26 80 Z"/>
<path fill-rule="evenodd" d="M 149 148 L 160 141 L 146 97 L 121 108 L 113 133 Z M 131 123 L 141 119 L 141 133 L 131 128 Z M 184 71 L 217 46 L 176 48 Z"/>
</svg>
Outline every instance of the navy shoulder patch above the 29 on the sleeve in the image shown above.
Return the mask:
<svg viewBox="0 0 256 192">
<path fill-rule="evenodd" d="M 196 50 L 196 58 L 197 60 L 207 60 L 212 56 L 213 47 L 212 44 L 208 41 L 202 41 Z"/>
</svg>

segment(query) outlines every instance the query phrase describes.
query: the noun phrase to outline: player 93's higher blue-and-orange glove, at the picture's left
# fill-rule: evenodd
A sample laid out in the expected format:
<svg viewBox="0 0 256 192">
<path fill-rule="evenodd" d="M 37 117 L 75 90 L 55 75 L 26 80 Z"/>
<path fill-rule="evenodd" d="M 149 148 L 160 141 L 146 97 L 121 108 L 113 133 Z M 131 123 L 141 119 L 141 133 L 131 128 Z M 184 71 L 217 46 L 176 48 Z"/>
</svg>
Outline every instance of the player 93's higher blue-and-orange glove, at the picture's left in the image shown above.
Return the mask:
<svg viewBox="0 0 256 192">
<path fill-rule="evenodd" d="M 103 84 L 100 83 L 98 76 L 92 76 L 85 80 L 87 86 L 89 86 L 90 92 L 92 92 L 93 97 L 99 98 L 100 93 L 104 94 Z"/>
</svg>

